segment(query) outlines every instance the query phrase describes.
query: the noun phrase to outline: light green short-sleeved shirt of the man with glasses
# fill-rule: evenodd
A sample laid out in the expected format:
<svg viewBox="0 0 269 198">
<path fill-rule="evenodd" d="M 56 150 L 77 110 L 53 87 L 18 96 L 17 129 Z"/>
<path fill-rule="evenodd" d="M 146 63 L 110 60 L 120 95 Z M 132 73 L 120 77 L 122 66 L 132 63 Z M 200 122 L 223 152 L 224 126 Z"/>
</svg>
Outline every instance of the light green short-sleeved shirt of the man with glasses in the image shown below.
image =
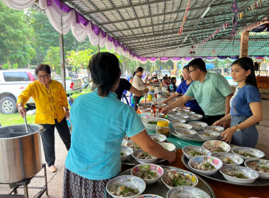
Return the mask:
<svg viewBox="0 0 269 198">
<path fill-rule="evenodd" d="M 191 83 L 185 95 L 194 97 L 205 115 L 223 115 L 226 96 L 233 93 L 224 76 L 207 71 L 205 80 Z"/>
</svg>

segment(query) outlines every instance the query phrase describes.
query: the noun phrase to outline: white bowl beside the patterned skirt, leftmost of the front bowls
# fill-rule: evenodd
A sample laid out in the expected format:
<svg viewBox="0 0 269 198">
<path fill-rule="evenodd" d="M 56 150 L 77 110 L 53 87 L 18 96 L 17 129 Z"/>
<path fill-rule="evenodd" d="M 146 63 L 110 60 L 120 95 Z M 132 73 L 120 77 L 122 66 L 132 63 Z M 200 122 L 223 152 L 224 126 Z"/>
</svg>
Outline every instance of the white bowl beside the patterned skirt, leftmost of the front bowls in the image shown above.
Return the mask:
<svg viewBox="0 0 269 198">
<path fill-rule="evenodd" d="M 116 194 L 112 194 L 112 192 L 117 189 L 117 186 L 122 186 L 125 185 L 127 187 L 132 187 L 132 189 L 137 189 L 138 194 L 135 194 L 134 196 L 131 197 L 137 197 L 139 194 L 142 194 L 144 190 L 146 189 L 146 183 L 140 179 L 139 177 L 135 177 L 132 175 L 122 175 L 118 177 L 114 177 L 111 179 L 108 184 L 106 185 L 106 191 L 115 198 L 119 198 L 120 196 L 117 196 Z"/>
</svg>

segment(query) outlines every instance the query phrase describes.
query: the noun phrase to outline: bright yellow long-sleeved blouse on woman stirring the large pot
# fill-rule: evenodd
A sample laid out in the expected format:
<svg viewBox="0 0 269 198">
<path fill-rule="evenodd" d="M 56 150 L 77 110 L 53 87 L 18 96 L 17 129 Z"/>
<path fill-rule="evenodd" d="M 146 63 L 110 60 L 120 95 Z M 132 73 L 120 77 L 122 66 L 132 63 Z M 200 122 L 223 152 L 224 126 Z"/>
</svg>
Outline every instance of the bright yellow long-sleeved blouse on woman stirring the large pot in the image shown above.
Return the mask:
<svg viewBox="0 0 269 198">
<path fill-rule="evenodd" d="M 62 121 L 65 116 L 64 108 L 68 107 L 68 102 L 61 83 L 50 80 L 50 88 L 47 89 L 39 81 L 33 81 L 18 96 L 17 104 L 25 105 L 30 97 L 35 100 L 35 124 L 55 124 L 55 119 L 57 122 Z"/>
</svg>

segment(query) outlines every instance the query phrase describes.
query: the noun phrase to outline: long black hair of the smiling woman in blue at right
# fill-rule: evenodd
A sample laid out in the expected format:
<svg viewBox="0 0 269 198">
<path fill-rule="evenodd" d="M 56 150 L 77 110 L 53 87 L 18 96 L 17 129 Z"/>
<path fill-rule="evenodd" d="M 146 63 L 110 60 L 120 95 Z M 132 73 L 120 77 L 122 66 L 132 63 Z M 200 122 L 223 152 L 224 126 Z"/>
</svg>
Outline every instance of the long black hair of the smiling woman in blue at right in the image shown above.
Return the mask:
<svg viewBox="0 0 269 198">
<path fill-rule="evenodd" d="M 254 71 L 253 60 L 251 58 L 248 58 L 248 57 L 242 57 L 240 59 L 235 60 L 231 64 L 231 66 L 233 66 L 234 64 L 238 64 L 242 69 L 244 69 L 246 71 L 248 71 L 250 69 L 251 74 L 249 74 L 246 77 L 246 84 L 252 85 L 252 86 L 255 86 L 256 88 L 258 88 L 257 81 L 256 81 L 256 76 L 255 76 L 255 71 Z"/>
</svg>

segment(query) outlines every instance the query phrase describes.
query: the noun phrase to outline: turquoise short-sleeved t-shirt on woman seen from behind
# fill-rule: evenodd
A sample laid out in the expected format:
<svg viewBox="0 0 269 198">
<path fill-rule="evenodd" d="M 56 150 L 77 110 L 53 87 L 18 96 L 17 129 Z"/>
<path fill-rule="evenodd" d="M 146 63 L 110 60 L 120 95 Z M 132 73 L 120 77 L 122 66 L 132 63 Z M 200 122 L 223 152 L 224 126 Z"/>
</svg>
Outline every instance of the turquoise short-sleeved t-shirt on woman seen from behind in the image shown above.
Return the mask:
<svg viewBox="0 0 269 198">
<path fill-rule="evenodd" d="M 71 148 L 65 166 L 89 180 L 105 180 L 120 173 L 120 146 L 125 134 L 134 136 L 144 124 L 132 107 L 110 92 L 97 89 L 79 96 L 71 106 Z"/>
</svg>

